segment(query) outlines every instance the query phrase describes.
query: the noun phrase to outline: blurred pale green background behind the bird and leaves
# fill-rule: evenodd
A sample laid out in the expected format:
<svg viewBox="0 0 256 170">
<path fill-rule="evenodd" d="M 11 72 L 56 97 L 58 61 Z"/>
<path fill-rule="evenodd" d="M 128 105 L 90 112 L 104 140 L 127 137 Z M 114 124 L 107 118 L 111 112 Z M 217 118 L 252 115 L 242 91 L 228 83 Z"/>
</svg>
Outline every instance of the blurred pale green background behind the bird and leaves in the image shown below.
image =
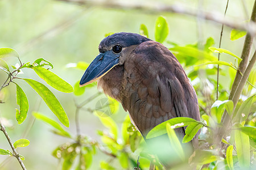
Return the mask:
<svg viewBox="0 0 256 170">
<path fill-rule="evenodd" d="M 114 1 L 112 1 L 114 2 Z M 224 14 L 226 1 L 119 1 L 123 3 L 163 3 L 166 5 L 181 5 L 197 10 L 201 8 L 204 11 Z M 100 3 L 100 2 L 99 2 Z M 243 3 L 245 6 L 243 6 Z M 247 20 L 248 13 L 253 7 L 252 0 L 231 1 L 227 11 L 227 16 L 239 21 Z M 150 14 L 149 12 L 139 10 L 105 9 L 104 7 L 86 7 L 73 3 L 66 3 L 52 0 L 1 0 L 0 1 L 0 47 L 9 47 L 15 49 L 20 54 L 22 62 L 33 62 L 36 58 L 43 57 L 50 61 L 54 68 L 53 73 L 74 85 L 80 80 L 84 71 L 67 68 L 68 63 L 77 63 L 85 61 L 90 63 L 98 54 L 98 44 L 109 32 L 133 32 L 139 33 L 141 24 L 148 28 L 150 39 L 154 39 L 155 20 L 159 15 L 163 15 L 169 24 L 168 40 L 179 45 L 193 44 L 199 42 L 204 44 L 207 37 L 213 37 L 216 41 L 214 46 L 218 46 L 220 39 L 221 24 L 210 21 L 197 20 L 192 16 L 170 14 L 163 12 L 159 14 Z M 249 14 L 250 15 L 250 14 Z M 237 56 L 240 56 L 244 37 L 231 41 L 229 39 L 231 28 L 224 27 L 222 37 L 222 48 L 228 49 Z M 163 43 L 167 47 L 170 44 Z M 229 61 L 225 55 L 221 55 L 224 61 Z M 7 58 L 8 63 L 18 63 L 16 58 Z M 36 74 L 28 69 L 23 69 L 21 77 L 40 80 Z M 228 69 L 226 70 L 228 71 Z M 229 76 L 220 77 L 221 80 L 229 82 Z M 6 74 L 0 72 L 0 83 L 6 79 Z M 58 121 L 57 118 L 48 109 L 46 104 L 40 99 L 39 95 L 32 90 L 26 82 L 15 80 L 26 92 L 30 103 L 27 120 L 18 125 L 15 120 L 15 86 L 11 84 L 4 88 L 0 93 L 0 99 L 5 104 L 0 105 L 0 117 L 9 124 L 7 132 L 11 139 L 16 141 L 19 138 L 27 138 L 30 145 L 18 149 L 18 152 L 25 156 L 24 164 L 27 169 L 58 169 L 58 160 L 51 155 L 52 151 L 61 143 L 68 140 L 59 137 L 50 131 L 48 125 L 36 120 L 31 115 L 32 111 L 38 111 L 46 114 L 48 117 Z M 228 86 L 229 83 L 226 84 Z M 86 97 L 96 93 L 97 88 L 86 90 L 85 95 L 74 97 L 73 94 L 63 94 L 49 87 L 56 95 L 57 99 L 63 105 L 68 114 L 70 128 L 73 134 L 75 129 L 75 104 Z M 90 103 L 91 108 L 96 103 Z M 112 115 L 112 118 L 121 126 L 127 113 L 122 108 L 118 114 Z M 85 111 L 80 113 L 81 133 L 88 135 L 93 139 L 100 139 L 96 134 L 97 129 L 104 129 L 97 117 Z M 32 128 L 30 128 L 32 126 Z M 0 133 L 0 147 L 10 150 L 6 138 Z M 93 159 L 91 169 L 98 168 L 97 160 L 104 160 L 105 155 L 96 155 Z M 5 155 L 0 155 L 0 169 L 19 169 L 16 159 L 6 160 Z"/>
</svg>

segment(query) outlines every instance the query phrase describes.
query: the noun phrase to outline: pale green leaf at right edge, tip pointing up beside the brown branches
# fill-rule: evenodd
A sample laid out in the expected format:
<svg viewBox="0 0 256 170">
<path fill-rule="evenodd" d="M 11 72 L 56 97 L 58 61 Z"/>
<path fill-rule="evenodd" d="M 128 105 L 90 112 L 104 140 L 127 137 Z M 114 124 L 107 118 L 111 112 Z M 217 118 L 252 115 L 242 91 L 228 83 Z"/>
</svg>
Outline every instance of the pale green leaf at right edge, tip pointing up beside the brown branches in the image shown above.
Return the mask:
<svg viewBox="0 0 256 170">
<path fill-rule="evenodd" d="M 250 112 L 250 108 L 251 108 L 251 101 L 253 101 L 253 96 L 250 96 L 248 99 L 246 99 L 245 101 L 243 101 L 243 103 L 241 104 L 240 108 L 238 109 L 237 113 L 236 113 L 236 120 L 241 120 L 245 121 L 246 118 L 248 117 L 248 114 Z"/>
</svg>

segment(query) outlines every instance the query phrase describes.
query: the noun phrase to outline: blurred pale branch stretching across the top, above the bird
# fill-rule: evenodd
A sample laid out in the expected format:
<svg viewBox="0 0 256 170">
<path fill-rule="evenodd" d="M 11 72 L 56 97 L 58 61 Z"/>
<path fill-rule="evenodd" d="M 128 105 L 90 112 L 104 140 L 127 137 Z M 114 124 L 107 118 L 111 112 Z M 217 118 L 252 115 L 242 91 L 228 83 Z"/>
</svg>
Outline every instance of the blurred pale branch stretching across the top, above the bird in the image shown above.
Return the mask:
<svg viewBox="0 0 256 170">
<path fill-rule="evenodd" d="M 176 13 L 183 14 L 188 16 L 199 17 L 204 20 L 210 20 L 212 22 L 216 22 L 219 24 L 224 24 L 230 28 L 245 30 L 250 33 L 252 36 L 256 35 L 256 24 L 253 22 L 244 23 L 242 20 L 239 21 L 237 19 L 224 18 L 220 14 L 216 14 L 213 12 L 201 12 L 201 15 L 198 15 L 197 10 L 192 10 L 191 8 L 184 8 L 180 5 L 166 5 L 163 3 L 130 3 L 123 1 L 87 1 L 87 0 L 56 0 L 69 2 L 76 5 L 82 5 L 86 7 L 102 7 L 102 8 L 110 8 L 110 9 L 122 9 L 122 10 L 139 10 L 141 12 L 149 13 L 149 14 L 163 14 L 165 13 Z"/>
</svg>

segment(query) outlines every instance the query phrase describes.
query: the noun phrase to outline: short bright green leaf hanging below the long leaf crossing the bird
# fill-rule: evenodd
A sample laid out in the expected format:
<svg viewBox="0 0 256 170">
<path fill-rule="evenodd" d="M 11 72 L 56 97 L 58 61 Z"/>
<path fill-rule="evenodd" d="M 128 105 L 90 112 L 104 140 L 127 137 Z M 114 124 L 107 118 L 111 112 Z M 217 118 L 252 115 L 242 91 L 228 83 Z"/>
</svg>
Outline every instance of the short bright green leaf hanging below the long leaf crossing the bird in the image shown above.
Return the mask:
<svg viewBox="0 0 256 170">
<path fill-rule="evenodd" d="M 185 136 L 182 140 L 182 143 L 187 143 L 195 137 L 197 131 L 202 128 L 202 124 L 199 124 L 198 122 L 193 122 L 188 125 L 188 127 L 185 130 Z"/>
</svg>

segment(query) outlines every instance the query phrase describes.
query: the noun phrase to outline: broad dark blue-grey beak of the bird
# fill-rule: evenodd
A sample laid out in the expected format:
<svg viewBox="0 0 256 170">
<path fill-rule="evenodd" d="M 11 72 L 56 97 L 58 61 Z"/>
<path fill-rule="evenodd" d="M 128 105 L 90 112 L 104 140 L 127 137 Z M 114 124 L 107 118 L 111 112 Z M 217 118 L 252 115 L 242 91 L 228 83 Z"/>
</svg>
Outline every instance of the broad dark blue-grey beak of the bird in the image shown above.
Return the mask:
<svg viewBox="0 0 256 170">
<path fill-rule="evenodd" d="M 80 80 L 80 87 L 95 82 L 106 73 L 108 73 L 114 66 L 118 65 L 119 54 L 114 54 L 112 51 L 100 53 L 90 63 L 89 67 L 85 70 L 84 75 Z"/>
</svg>

